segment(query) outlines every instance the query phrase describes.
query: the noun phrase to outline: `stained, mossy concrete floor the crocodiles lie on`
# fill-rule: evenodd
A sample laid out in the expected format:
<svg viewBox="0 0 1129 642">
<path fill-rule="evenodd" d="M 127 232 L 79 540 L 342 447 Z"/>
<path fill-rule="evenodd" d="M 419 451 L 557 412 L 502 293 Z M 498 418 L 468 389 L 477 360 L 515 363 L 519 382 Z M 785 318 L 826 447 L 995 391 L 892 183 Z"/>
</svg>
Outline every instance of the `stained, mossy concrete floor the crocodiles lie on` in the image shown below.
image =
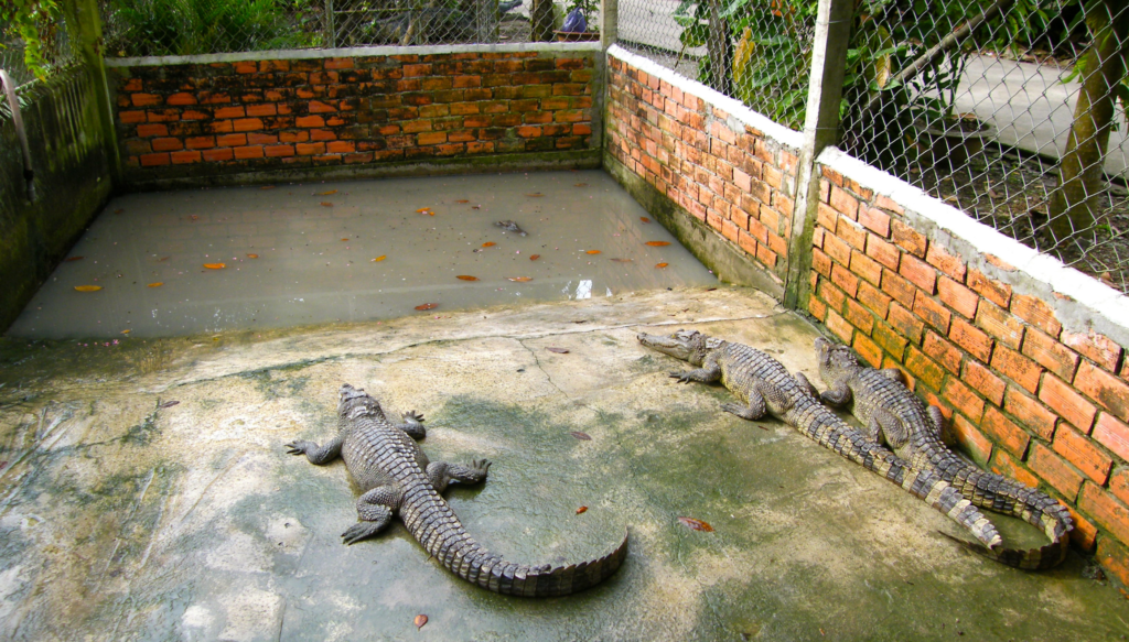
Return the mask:
<svg viewBox="0 0 1129 642">
<path fill-rule="evenodd" d="M 1030 573 L 965 553 L 938 534 L 960 535 L 949 521 L 899 487 L 779 422 L 719 412 L 723 388 L 671 379 L 682 366 L 634 335 L 679 327 L 815 375 L 815 329 L 730 288 L 116 345 L 5 340 L 0 637 L 1129 635 L 1126 599 L 1084 577 L 1089 561 L 1071 553 Z M 343 466 L 283 449 L 332 434 L 343 381 L 422 412 L 432 459 L 493 461 L 484 485 L 448 493 L 487 547 L 577 561 L 627 527 L 624 565 L 595 589 L 534 600 L 458 580 L 399 524 L 343 546 L 356 520 Z"/>
</svg>

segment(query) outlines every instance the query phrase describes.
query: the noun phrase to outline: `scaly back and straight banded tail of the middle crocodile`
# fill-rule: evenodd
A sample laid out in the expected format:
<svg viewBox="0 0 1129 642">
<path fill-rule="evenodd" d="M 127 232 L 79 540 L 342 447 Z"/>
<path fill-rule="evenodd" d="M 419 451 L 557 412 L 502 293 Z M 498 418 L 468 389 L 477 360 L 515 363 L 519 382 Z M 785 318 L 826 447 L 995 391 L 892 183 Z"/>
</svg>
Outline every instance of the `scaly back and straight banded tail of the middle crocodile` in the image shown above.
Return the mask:
<svg viewBox="0 0 1129 642">
<path fill-rule="evenodd" d="M 772 384 L 782 393 L 782 398 L 767 399 L 768 406 L 770 411 L 785 406 L 782 413 L 773 411 L 781 420 L 824 448 L 882 475 L 924 500 L 926 504 L 969 529 L 988 547 L 1000 543 L 996 527 L 948 482 L 929 470 L 914 468 L 890 450 L 868 440 L 802 387 L 782 363 L 760 350 L 739 343 L 720 342 L 714 350 L 718 351 L 721 381 L 743 401 L 749 401 L 749 389 L 754 380 Z"/>
</svg>

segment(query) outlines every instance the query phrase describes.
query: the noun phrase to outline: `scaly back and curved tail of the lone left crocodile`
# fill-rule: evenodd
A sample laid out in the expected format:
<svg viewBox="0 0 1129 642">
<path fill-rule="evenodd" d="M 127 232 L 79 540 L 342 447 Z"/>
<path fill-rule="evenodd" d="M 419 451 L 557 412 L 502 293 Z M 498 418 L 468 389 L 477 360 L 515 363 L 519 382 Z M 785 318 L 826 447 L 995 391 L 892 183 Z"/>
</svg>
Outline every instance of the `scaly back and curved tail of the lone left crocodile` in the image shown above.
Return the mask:
<svg viewBox="0 0 1129 642">
<path fill-rule="evenodd" d="M 445 569 L 471 583 L 502 595 L 564 596 L 607 579 L 627 556 L 624 534 L 614 551 L 579 564 L 551 568 L 507 562 L 466 533 L 450 504 L 431 486 L 418 454 L 419 446 L 408 434 L 373 416 L 355 420 L 342 449 L 356 477 L 379 470 L 395 480 L 403 492 L 400 519 L 404 526 Z"/>
</svg>

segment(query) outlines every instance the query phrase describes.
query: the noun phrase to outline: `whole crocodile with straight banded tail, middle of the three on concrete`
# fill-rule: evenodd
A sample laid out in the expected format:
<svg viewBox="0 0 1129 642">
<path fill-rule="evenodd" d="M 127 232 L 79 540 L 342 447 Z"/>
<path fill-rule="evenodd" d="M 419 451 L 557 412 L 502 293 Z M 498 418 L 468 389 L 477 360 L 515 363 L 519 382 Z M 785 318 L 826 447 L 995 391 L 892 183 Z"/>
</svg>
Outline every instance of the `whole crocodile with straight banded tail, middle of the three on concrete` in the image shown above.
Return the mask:
<svg viewBox="0 0 1129 642">
<path fill-rule="evenodd" d="M 843 422 L 815 398 L 815 389 L 803 375 L 793 377 L 782 363 L 760 350 L 708 337 L 697 331 L 680 329 L 671 336 L 640 333 L 638 337 L 647 348 L 699 367 L 688 372 L 672 372 L 671 377 L 683 382 L 720 380 L 746 404 L 723 404 L 721 408 L 726 412 L 747 420 L 770 413 L 821 446 L 925 500 L 928 505 L 969 529 L 987 547 L 1000 543 L 996 527 L 948 482 L 928 470 L 913 468 L 890 450 L 866 439 L 859 430 Z"/>
</svg>

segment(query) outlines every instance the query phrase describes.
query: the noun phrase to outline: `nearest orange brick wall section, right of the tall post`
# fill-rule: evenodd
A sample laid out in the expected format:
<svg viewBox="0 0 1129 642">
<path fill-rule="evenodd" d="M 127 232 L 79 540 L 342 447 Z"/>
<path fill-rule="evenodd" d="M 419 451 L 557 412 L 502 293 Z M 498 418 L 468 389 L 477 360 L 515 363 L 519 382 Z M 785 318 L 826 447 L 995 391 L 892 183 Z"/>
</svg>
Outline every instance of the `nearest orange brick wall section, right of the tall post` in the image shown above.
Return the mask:
<svg viewBox="0 0 1129 642">
<path fill-rule="evenodd" d="M 1074 542 L 1129 583 L 1123 346 L 1093 329 L 1100 314 L 1078 314 L 1075 291 L 1038 292 L 1038 279 L 859 181 L 823 167 L 808 310 L 873 366 L 905 372 L 974 459 L 1062 499 Z"/>
</svg>

